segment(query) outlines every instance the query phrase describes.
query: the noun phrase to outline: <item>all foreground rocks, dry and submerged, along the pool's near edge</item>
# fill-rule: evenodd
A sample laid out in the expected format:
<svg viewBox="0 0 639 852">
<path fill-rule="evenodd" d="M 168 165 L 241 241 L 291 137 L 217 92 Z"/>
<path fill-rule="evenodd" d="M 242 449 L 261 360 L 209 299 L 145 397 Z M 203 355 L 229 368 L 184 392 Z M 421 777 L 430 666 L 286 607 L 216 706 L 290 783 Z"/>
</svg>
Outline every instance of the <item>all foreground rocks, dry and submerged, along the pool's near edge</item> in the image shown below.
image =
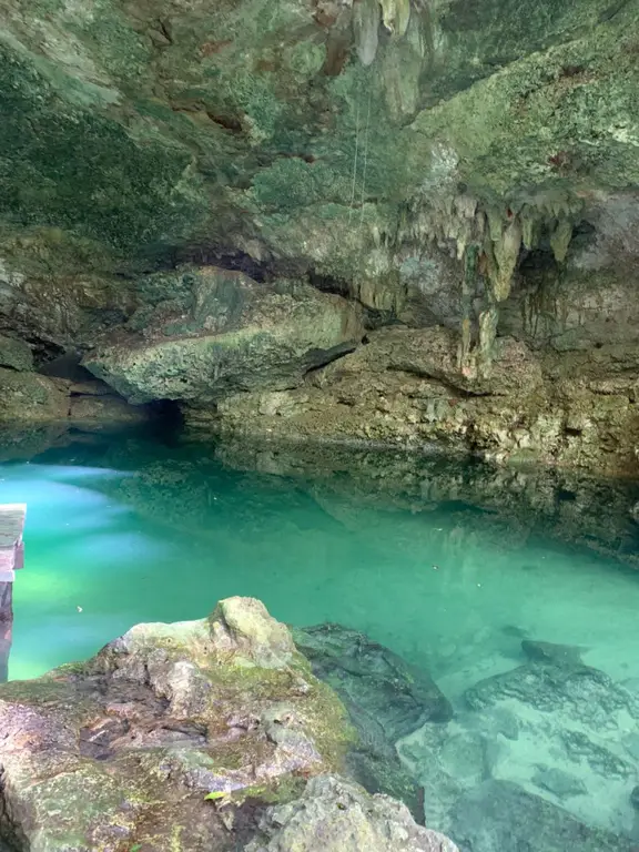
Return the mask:
<svg viewBox="0 0 639 852">
<path fill-rule="evenodd" d="M 362 633 L 291 632 L 260 601 L 230 598 L 207 619 L 139 625 L 87 662 L 0 686 L 0 842 L 632 852 L 637 720 L 636 684 L 577 648 L 525 640 L 519 667 L 453 707 Z"/>
</svg>

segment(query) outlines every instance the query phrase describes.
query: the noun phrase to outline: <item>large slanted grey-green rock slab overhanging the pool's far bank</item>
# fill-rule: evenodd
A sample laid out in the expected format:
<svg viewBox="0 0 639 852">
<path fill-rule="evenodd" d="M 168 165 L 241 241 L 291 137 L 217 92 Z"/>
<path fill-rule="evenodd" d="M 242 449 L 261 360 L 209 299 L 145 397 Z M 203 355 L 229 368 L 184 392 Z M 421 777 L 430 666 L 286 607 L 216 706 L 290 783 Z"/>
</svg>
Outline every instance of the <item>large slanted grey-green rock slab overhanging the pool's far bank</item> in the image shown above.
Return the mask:
<svg viewBox="0 0 639 852">
<path fill-rule="evenodd" d="M 169 298 L 161 292 L 161 301 L 140 308 L 84 359 L 132 403 L 202 406 L 255 387 L 295 387 L 364 334 L 353 304 L 300 282 L 258 284 L 217 268 L 169 285 L 165 278 Z"/>
</svg>

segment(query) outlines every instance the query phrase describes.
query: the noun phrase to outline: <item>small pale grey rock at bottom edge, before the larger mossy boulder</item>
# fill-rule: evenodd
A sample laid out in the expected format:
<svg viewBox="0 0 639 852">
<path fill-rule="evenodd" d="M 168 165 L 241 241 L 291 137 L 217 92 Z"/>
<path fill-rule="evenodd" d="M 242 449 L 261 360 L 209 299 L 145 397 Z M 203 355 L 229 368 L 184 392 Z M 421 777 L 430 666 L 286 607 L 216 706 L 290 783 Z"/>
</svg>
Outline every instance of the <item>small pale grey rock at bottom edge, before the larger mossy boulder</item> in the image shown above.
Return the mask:
<svg viewBox="0 0 639 852">
<path fill-rule="evenodd" d="M 416 825 L 405 805 L 331 775 L 271 808 L 260 829 L 263 836 L 245 852 L 458 852 L 447 838 Z"/>
</svg>

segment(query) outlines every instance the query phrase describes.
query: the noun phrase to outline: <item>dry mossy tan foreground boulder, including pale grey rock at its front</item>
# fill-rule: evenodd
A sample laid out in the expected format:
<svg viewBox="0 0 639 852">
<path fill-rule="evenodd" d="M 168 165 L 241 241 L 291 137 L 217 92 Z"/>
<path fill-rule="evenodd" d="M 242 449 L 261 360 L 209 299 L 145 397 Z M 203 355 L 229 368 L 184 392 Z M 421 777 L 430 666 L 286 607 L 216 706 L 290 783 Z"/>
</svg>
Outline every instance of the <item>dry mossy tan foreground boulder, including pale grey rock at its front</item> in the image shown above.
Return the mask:
<svg viewBox="0 0 639 852">
<path fill-rule="evenodd" d="M 339 778 L 346 711 L 252 598 L 4 684 L 0 730 L 0 841 L 17 852 L 457 852 Z"/>
</svg>

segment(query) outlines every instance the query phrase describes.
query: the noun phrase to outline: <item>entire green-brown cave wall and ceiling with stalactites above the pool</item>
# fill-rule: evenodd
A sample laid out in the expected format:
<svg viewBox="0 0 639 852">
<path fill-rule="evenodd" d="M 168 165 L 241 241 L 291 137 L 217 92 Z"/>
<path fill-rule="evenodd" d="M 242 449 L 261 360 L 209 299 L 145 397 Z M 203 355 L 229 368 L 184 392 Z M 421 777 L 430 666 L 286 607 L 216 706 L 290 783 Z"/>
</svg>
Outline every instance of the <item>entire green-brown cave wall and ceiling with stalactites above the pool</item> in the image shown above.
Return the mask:
<svg viewBox="0 0 639 852">
<path fill-rule="evenodd" d="M 0 0 L 0 83 L 3 419 L 77 356 L 206 429 L 639 473 L 639 0 Z"/>
</svg>

